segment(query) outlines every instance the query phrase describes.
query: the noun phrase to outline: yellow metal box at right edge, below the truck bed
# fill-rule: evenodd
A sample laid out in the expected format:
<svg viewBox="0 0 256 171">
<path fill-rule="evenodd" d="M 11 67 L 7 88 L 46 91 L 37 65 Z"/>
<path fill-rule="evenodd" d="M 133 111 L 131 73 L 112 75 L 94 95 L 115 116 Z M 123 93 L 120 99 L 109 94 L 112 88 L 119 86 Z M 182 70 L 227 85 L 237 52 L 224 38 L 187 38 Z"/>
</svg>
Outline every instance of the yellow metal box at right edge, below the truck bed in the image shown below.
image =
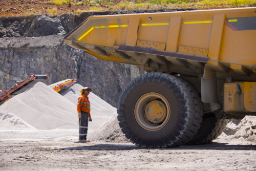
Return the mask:
<svg viewBox="0 0 256 171">
<path fill-rule="evenodd" d="M 241 93 L 238 91 L 238 84 Z M 224 84 L 224 112 L 256 112 L 256 82 L 231 82 Z"/>
</svg>

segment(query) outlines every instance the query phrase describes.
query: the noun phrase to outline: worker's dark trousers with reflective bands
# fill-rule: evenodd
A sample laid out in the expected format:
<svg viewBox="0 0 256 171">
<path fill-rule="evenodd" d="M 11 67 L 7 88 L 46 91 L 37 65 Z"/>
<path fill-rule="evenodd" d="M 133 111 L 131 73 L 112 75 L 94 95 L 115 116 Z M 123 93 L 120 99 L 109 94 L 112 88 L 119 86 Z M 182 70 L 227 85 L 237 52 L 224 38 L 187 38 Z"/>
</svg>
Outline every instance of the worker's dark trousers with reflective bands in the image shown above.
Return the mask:
<svg viewBox="0 0 256 171">
<path fill-rule="evenodd" d="M 81 111 L 81 118 L 79 118 L 79 140 L 87 139 L 87 131 L 88 131 L 88 121 L 89 114 L 87 112 Z"/>
</svg>

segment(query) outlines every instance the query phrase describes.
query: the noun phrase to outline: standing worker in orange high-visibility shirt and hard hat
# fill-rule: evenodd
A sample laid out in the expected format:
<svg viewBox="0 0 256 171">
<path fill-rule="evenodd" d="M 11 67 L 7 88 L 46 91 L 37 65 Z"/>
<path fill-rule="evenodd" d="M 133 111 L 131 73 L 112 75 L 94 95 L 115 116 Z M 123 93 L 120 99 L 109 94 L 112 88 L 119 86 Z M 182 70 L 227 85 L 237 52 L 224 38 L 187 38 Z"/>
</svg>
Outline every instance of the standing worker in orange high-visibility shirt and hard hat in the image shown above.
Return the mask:
<svg viewBox="0 0 256 171">
<path fill-rule="evenodd" d="M 92 92 L 91 88 L 85 87 L 80 93 L 81 96 L 78 97 L 77 102 L 77 112 L 79 118 L 79 141 L 78 142 L 90 142 L 87 140 L 87 131 L 88 131 L 88 120 L 91 122 L 91 102 L 88 95 Z"/>
</svg>

